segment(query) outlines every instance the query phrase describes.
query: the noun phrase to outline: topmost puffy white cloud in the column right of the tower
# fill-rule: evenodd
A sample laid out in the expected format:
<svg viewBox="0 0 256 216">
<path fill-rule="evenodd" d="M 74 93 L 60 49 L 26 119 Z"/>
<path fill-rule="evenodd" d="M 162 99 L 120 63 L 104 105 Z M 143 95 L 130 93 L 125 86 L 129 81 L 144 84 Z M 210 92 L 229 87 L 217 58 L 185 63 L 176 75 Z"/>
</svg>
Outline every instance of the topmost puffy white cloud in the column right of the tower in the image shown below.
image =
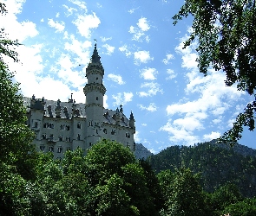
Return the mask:
<svg viewBox="0 0 256 216">
<path fill-rule="evenodd" d="M 147 18 L 141 17 L 137 22 L 137 27 L 130 26 L 129 33 L 133 35 L 132 40 L 134 41 L 147 41 L 149 42 L 149 36 L 145 34 L 150 29 L 150 25 Z"/>
</svg>

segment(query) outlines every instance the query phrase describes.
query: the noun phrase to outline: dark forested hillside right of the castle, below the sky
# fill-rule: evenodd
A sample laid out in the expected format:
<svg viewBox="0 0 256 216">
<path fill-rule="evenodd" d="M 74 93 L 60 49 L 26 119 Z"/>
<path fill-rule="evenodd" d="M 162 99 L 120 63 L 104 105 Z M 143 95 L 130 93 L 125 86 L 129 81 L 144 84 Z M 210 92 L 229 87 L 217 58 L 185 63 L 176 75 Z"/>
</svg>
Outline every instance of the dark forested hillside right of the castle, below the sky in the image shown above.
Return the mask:
<svg viewBox="0 0 256 216">
<path fill-rule="evenodd" d="M 172 146 L 148 158 L 156 173 L 175 168 L 190 168 L 200 174 L 200 184 L 207 192 L 213 192 L 226 182 L 240 188 L 246 197 L 256 195 L 256 156 L 255 151 L 236 144 L 226 145 L 199 143 L 190 146 Z"/>
</svg>

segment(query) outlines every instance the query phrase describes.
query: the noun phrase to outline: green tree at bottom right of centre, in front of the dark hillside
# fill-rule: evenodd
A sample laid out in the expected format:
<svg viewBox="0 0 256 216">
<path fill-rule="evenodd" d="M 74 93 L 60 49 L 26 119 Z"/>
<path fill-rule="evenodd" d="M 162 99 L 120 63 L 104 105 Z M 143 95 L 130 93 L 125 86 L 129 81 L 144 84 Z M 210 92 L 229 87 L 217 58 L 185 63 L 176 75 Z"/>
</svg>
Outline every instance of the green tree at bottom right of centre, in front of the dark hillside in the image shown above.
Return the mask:
<svg viewBox="0 0 256 216">
<path fill-rule="evenodd" d="M 204 215 L 208 213 L 205 195 L 197 175 L 188 168 L 164 171 L 158 175 L 165 194 L 162 215 Z"/>
</svg>

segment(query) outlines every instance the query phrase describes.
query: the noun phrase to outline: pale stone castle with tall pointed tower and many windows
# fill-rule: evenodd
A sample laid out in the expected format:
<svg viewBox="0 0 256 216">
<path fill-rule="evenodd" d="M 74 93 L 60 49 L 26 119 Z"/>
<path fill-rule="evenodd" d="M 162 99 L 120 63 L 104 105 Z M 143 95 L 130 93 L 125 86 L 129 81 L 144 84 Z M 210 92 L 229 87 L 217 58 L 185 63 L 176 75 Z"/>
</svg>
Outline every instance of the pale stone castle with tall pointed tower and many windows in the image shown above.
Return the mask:
<svg viewBox="0 0 256 216">
<path fill-rule="evenodd" d="M 122 106 L 115 111 L 103 107 L 103 96 L 106 92 L 102 84 L 104 68 L 96 44 L 88 67 L 88 83 L 83 88 L 85 104 L 23 98 L 28 112 L 28 125 L 35 132 L 33 143 L 36 149 L 51 151 L 55 158 L 62 158 L 67 150 L 82 148 L 84 154 L 102 138 L 106 138 L 125 147 L 135 150 L 135 118 L 131 112 L 127 118 Z"/>
</svg>

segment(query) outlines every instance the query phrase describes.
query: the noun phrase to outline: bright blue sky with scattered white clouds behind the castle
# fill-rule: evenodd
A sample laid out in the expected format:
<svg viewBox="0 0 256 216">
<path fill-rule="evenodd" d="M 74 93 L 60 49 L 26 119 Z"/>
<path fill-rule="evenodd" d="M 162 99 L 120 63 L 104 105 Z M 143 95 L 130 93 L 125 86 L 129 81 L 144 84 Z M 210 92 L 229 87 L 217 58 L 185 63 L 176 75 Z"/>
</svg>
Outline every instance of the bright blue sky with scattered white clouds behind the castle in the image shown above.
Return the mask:
<svg viewBox="0 0 256 216">
<path fill-rule="evenodd" d="M 181 0 L 2 0 L 0 28 L 23 45 L 10 59 L 25 97 L 85 103 L 86 67 L 95 40 L 107 88 L 104 107 L 135 116 L 135 142 L 152 153 L 211 141 L 229 130 L 252 100 L 225 73 L 197 68 L 196 42 L 183 49 L 192 17 L 173 25 Z M 240 144 L 256 149 L 256 132 Z"/>
</svg>

